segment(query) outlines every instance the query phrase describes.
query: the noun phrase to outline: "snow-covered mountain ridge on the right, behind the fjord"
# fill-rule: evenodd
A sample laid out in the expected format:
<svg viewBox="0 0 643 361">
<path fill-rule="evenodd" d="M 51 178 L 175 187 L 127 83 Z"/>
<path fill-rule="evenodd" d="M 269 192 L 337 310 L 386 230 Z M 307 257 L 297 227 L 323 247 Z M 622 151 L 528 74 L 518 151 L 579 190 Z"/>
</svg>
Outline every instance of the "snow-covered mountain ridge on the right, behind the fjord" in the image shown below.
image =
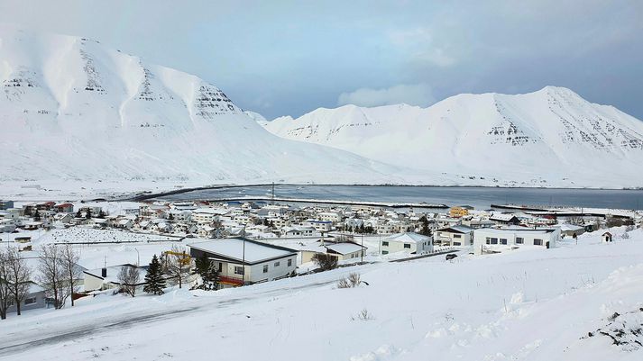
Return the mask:
<svg viewBox="0 0 643 361">
<path fill-rule="evenodd" d="M 563 87 L 455 95 L 428 108 L 320 108 L 264 124 L 286 139 L 431 169 L 455 183 L 643 185 L 643 122 Z"/>
</svg>

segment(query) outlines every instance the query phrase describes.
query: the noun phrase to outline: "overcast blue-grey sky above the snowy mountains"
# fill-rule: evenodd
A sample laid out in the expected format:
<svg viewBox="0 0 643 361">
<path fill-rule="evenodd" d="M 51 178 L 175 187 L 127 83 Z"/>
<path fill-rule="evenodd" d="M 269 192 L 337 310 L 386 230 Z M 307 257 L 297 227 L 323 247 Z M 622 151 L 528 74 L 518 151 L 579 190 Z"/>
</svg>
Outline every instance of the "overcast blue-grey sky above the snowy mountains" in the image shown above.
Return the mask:
<svg viewBox="0 0 643 361">
<path fill-rule="evenodd" d="M 552 85 L 643 120 L 641 0 L 0 0 L 0 22 L 196 74 L 269 119 Z"/>
</svg>

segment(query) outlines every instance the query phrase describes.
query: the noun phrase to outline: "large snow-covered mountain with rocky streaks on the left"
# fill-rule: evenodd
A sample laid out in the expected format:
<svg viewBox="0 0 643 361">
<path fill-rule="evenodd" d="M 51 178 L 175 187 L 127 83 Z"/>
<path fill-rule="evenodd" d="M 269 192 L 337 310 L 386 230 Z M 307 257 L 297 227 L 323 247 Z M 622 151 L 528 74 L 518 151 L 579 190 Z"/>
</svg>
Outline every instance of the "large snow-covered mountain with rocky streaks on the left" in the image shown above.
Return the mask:
<svg viewBox="0 0 643 361">
<path fill-rule="evenodd" d="M 97 41 L 0 27 L 0 181 L 401 183 L 265 131 L 219 88 Z"/>
</svg>

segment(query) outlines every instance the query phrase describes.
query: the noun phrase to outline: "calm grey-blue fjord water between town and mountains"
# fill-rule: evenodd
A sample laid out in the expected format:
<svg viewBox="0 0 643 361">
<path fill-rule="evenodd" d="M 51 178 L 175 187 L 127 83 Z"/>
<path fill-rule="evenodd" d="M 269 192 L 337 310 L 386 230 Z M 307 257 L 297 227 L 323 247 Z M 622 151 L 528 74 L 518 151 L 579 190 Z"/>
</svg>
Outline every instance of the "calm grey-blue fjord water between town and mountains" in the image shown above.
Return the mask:
<svg viewBox="0 0 643 361">
<path fill-rule="evenodd" d="M 163 197 L 167 200 L 270 196 L 271 186 L 230 187 Z M 444 203 L 488 209 L 494 204 L 641 209 L 643 190 L 486 188 L 372 185 L 275 185 L 275 197 L 399 203 Z"/>
</svg>

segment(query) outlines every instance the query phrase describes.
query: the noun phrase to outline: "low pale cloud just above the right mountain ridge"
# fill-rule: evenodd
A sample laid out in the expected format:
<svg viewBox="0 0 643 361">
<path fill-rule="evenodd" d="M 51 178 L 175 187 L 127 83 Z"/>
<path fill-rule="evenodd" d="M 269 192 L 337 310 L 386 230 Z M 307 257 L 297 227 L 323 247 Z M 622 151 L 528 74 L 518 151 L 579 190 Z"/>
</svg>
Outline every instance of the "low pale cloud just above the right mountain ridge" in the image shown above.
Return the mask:
<svg viewBox="0 0 643 361">
<path fill-rule="evenodd" d="M 390 86 L 381 89 L 363 87 L 337 98 L 338 105 L 378 106 L 390 104 L 428 106 L 436 103 L 431 87 L 427 84 Z"/>
</svg>

